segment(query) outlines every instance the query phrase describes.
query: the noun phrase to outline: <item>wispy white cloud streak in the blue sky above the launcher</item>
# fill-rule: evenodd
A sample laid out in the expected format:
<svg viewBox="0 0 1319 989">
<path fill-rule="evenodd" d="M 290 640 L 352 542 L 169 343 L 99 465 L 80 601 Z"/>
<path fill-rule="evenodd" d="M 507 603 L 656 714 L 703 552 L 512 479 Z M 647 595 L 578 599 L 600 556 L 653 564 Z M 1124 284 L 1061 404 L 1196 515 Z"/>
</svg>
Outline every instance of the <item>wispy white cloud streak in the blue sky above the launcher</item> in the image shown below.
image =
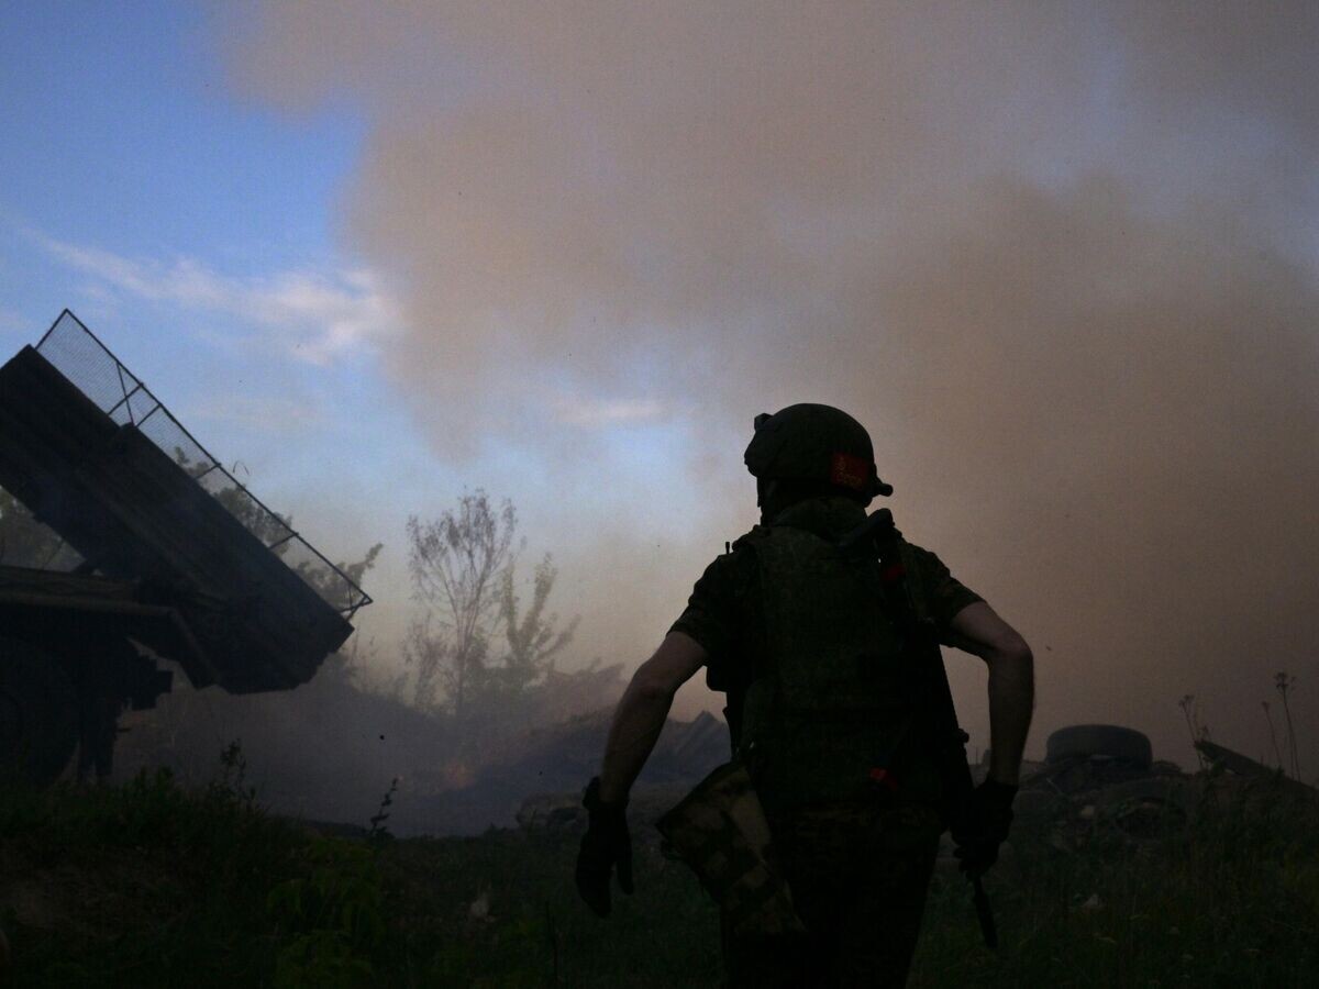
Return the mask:
<svg viewBox="0 0 1319 989">
<path fill-rule="evenodd" d="M 264 330 L 273 345 L 311 364 L 376 347 L 400 330 L 396 302 L 365 269 L 236 278 L 194 258 L 128 258 L 32 236 L 51 256 L 90 276 L 96 290 L 109 287 L 152 302 L 237 316 Z"/>
</svg>

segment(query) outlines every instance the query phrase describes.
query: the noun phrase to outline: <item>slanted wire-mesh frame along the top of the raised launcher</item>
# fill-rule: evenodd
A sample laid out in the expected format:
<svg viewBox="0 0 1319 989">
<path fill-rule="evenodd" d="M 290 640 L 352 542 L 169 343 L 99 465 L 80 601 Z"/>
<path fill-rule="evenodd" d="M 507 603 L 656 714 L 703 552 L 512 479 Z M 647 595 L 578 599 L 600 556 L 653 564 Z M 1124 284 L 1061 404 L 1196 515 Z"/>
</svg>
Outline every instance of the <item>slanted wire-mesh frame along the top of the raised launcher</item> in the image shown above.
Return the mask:
<svg viewBox="0 0 1319 989">
<path fill-rule="evenodd" d="M 102 411 L 135 426 L 186 471 L 244 529 L 348 618 L 371 597 L 266 508 L 183 429 L 169 409 L 67 309 L 37 344 L 41 353 Z"/>
</svg>

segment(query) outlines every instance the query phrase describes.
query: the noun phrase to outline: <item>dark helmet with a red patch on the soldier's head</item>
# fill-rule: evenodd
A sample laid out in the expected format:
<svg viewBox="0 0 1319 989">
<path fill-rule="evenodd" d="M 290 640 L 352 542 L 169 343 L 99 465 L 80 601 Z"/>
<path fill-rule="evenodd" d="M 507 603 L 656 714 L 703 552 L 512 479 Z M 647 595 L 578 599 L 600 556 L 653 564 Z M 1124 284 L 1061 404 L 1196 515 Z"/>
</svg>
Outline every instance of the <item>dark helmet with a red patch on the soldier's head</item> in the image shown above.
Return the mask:
<svg viewBox="0 0 1319 989">
<path fill-rule="evenodd" d="M 864 497 L 893 493 L 874 468 L 871 434 L 831 405 L 802 402 L 761 413 L 743 459 L 762 480 L 823 481 Z"/>
</svg>

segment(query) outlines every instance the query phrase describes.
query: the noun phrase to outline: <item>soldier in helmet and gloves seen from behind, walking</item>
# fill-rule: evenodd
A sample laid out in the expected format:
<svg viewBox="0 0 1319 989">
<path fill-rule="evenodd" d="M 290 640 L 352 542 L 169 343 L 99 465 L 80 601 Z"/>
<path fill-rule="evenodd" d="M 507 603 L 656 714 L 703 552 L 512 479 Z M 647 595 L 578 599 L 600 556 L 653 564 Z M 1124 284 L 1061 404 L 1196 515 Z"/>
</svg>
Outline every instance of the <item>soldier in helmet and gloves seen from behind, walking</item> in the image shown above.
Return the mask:
<svg viewBox="0 0 1319 989">
<path fill-rule="evenodd" d="M 745 463 L 760 525 L 706 568 L 619 702 L 586 791 L 578 890 L 601 916 L 615 870 L 632 891 L 628 793 L 675 691 L 704 667 L 711 690 L 727 695 L 731 765 L 749 781 L 769 835 L 765 848 L 707 858 L 786 884 L 782 894 L 764 882 L 743 882 L 737 895 L 712 889 L 729 985 L 901 986 L 940 833 L 954 827 L 973 878 L 1008 835 L 1031 653 L 935 554 L 905 542 L 886 510 L 867 516 L 872 498 L 893 489 L 847 413 L 802 404 L 758 415 Z M 939 644 L 989 667 L 992 761 L 962 795 L 940 757 L 947 740 L 931 699 L 930 670 L 943 675 Z M 737 790 L 731 779 L 720 777 L 721 793 Z M 783 903 L 794 916 L 765 923 L 766 905 Z"/>
</svg>

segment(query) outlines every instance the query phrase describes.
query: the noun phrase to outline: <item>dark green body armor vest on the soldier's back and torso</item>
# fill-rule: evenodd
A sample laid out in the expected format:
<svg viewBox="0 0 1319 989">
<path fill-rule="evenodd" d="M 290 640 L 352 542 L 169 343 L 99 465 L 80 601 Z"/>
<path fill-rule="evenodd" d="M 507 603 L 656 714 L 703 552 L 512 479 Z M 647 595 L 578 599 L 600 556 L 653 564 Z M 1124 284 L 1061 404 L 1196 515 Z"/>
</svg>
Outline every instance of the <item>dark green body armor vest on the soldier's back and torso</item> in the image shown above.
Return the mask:
<svg viewBox="0 0 1319 989">
<path fill-rule="evenodd" d="M 927 704 L 913 667 L 921 655 L 904 641 L 906 618 L 926 618 L 925 608 L 885 603 L 872 553 L 847 553 L 786 525 L 748 543 L 760 571 L 765 653 L 747 690 L 737 750 L 766 811 L 936 802 L 938 771 L 919 757 Z"/>
</svg>

